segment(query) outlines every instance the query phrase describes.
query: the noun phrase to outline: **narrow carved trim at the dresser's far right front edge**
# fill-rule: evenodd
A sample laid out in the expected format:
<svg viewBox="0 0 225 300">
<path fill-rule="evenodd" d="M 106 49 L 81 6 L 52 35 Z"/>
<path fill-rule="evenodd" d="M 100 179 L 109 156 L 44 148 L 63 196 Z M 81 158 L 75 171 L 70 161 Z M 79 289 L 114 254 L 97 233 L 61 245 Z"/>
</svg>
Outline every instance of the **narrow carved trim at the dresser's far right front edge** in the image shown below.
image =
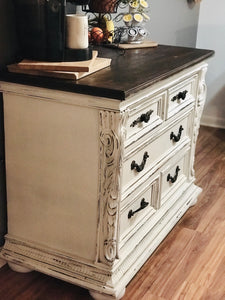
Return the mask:
<svg viewBox="0 0 225 300">
<path fill-rule="evenodd" d="M 205 75 L 207 72 L 207 64 L 203 66 L 203 68 L 199 72 L 199 82 L 198 82 L 198 92 L 197 92 L 197 99 L 196 99 L 196 105 L 195 105 L 195 112 L 194 112 L 194 127 L 193 127 L 193 138 L 192 138 L 192 151 L 191 151 L 191 176 L 195 176 L 194 171 L 194 159 L 195 159 L 195 148 L 196 148 L 196 142 L 198 138 L 199 133 L 199 126 L 200 126 L 200 120 L 206 100 L 206 92 L 207 87 L 205 83 Z"/>
</svg>

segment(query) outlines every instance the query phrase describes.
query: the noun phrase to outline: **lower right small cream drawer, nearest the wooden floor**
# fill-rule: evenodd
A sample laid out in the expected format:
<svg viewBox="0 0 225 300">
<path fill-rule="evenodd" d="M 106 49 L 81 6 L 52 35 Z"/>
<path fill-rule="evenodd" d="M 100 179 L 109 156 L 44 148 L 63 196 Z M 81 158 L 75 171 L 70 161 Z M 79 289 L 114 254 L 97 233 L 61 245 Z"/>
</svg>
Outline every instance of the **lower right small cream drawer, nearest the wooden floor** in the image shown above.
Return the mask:
<svg viewBox="0 0 225 300">
<path fill-rule="evenodd" d="M 190 152 L 179 153 L 161 172 L 161 204 L 171 197 L 178 187 L 187 181 L 190 170 Z"/>
</svg>

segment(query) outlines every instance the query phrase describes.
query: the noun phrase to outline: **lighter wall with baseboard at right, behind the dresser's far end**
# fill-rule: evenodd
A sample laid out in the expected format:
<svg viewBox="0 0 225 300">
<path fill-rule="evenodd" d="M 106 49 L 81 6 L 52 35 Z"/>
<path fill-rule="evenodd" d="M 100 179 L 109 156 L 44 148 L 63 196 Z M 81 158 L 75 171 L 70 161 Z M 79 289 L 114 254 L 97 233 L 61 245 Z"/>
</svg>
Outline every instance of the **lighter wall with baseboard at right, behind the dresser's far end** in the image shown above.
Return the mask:
<svg viewBox="0 0 225 300">
<path fill-rule="evenodd" d="M 202 0 L 197 48 L 215 50 L 209 60 L 208 86 L 202 124 L 225 128 L 225 1 Z"/>
</svg>

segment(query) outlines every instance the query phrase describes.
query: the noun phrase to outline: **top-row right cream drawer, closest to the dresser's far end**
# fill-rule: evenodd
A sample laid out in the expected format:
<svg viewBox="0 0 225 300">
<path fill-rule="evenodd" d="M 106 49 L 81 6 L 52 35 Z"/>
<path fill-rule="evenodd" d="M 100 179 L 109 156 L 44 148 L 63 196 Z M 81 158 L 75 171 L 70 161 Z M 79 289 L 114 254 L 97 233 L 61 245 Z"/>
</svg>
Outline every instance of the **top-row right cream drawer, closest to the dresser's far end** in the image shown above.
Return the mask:
<svg viewBox="0 0 225 300">
<path fill-rule="evenodd" d="M 197 75 L 168 89 L 167 118 L 189 105 L 196 97 Z"/>
</svg>

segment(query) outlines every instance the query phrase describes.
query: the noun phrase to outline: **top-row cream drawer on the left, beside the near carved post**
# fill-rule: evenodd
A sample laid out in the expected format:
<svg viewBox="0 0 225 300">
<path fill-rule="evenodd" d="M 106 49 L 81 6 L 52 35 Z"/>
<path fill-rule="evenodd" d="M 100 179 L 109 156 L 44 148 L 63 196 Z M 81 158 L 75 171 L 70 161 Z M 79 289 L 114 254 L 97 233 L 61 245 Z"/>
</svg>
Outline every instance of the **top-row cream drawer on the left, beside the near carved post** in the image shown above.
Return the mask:
<svg viewBox="0 0 225 300">
<path fill-rule="evenodd" d="M 129 117 L 125 124 L 126 141 L 125 146 L 144 135 L 153 127 L 162 123 L 163 107 L 166 93 L 161 93 L 152 98 L 141 101 L 140 105 L 129 108 Z M 134 137 L 136 135 L 136 137 Z"/>
</svg>

